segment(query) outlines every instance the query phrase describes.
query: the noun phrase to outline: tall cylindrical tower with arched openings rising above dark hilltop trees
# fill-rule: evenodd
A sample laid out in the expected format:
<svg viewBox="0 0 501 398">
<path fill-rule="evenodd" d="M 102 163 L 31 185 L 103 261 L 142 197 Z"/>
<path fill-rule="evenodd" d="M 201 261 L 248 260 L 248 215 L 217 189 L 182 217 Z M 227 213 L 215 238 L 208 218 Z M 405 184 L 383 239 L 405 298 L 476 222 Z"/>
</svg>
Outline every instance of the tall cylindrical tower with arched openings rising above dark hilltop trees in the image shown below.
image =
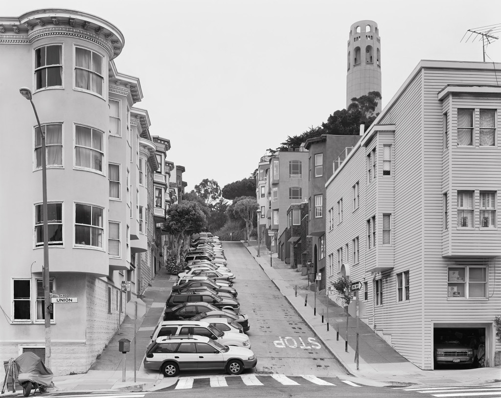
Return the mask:
<svg viewBox="0 0 501 398">
<path fill-rule="evenodd" d="M 377 24 L 364 20 L 354 23 L 350 28 L 346 107 L 351 104 L 352 98 L 371 91 L 381 93 L 381 39 Z M 381 101 L 375 113 L 378 112 L 381 112 Z"/>
</svg>

